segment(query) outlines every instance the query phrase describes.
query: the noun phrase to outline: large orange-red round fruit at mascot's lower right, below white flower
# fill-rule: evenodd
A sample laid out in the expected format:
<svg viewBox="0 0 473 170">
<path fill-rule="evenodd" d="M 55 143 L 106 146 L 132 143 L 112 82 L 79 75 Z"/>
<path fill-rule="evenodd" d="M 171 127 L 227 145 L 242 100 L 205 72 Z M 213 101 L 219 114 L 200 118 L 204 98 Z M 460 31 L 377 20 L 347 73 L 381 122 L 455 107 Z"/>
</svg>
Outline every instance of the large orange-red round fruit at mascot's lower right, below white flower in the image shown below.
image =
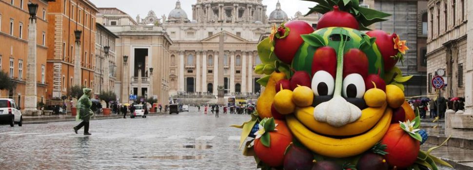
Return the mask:
<svg viewBox="0 0 473 170">
<path fill-rule="evenodd" d="M 404 131 L 399 123 L 391 124 L 388 132 L 381 139 L 386 145 L 387 152 L 384 155 L 391 166 L 403 169 L 414 164 L 420 150 L 420 142 Z"/>
</svg>

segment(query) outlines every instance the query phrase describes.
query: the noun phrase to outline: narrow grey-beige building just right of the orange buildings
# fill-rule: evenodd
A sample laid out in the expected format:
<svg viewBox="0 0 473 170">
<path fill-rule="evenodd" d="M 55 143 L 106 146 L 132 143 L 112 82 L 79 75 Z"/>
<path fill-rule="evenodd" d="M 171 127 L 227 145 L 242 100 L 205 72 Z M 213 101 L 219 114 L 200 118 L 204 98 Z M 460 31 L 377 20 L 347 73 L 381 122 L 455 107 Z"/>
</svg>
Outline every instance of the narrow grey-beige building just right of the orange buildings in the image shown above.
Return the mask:
<svg viewBox="0 0 473 170">
<path fill-rule="evenodd" d="M 95 70 L 93 91 L 98 95 L 101 91 L 115 91 L 117 77 L 117 52 L 115 40 L 119 38 L 102 24 L 96 23 Z M 108 53 L 105 52 L 108 48 Z"/>
</svg>

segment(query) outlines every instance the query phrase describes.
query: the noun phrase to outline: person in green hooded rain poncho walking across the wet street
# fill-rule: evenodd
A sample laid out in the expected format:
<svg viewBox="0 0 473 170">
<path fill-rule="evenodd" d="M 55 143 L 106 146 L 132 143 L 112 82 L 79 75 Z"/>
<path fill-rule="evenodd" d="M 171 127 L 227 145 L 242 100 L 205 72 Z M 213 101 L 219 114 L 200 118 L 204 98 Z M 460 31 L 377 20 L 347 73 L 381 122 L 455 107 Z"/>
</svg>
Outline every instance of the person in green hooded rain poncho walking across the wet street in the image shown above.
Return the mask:
<svg viewBox="0 0 473 170">
<path fill-rule="evenodd" d="M 82 121 L 77 126 L 74 126 L 74 132 L 77 134 L 77 131 L 83 126 L 84 135 L 92 135 L 89 133 L 89 120 L 94 115 L 94 112 L 90 109 L 92 106 L 92 101 L 90 101 L 92 89 L 83 88 L 82 91 L 84 94 L 79 98 L 76 105 L 77 110 L 79 110 L 76 119 L 81 119 Z"/>
</svg>

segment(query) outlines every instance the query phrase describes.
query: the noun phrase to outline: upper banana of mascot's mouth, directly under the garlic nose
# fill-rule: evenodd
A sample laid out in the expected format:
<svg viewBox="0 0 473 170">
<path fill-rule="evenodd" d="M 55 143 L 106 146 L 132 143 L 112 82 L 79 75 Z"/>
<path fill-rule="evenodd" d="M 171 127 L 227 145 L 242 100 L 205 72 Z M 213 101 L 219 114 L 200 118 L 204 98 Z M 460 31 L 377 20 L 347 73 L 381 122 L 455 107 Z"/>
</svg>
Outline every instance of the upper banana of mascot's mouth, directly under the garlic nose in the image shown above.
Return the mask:
<svg viewBox="0 0 473 170">
<path fill-rule="evenodd" d="M 314 107 L 303 107 L 296 109 L 296 118 L 312 131 L 330 136 L 352 136 L 358 135 L 371 129 L 384 114 L 386 102 L 381 107 L 368 107 L 361 111 L 361 117 L 355 122 L 342 127 L 334 127 L 326 122 L 314 119 Z"/>
</svg>

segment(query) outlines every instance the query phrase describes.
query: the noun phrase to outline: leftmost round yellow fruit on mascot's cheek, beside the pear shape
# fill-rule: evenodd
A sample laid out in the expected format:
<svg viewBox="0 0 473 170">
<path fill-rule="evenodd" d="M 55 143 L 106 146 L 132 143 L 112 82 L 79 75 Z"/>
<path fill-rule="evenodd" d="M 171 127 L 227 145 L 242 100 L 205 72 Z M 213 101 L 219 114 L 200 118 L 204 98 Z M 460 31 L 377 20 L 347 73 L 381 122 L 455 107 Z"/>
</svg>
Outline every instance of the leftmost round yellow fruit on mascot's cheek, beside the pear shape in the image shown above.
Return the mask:
<svg viewBox="0 0 473 170">
<path fill-rule="evenodd" d="M 274 108 L 282 115 L 294 112 L 296 105 L 293 102 L 293 91 L 284 89 L 276 93 L 274 97 Z"/>
</svg>

